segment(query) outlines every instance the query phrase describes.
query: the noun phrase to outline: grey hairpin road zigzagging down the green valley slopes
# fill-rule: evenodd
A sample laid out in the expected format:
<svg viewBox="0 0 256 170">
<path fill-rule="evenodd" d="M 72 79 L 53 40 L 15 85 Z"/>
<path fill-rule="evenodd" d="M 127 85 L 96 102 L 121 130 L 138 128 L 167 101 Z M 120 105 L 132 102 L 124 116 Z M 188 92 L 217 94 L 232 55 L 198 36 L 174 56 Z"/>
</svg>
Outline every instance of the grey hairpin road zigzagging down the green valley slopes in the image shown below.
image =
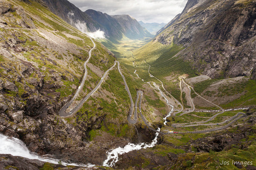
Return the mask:
<svg viewBox="0 0 256 170">
<path fill-rule="evenodd" d="M 91 39 L 91 37 L 90 37 L 90 39 Z M 146 125 L 150 130 L 152 130 L 152 131 L 154 131 L 154 132 L 157 132 L 157 133 L 160 133 L 161 135 L 168 135 L 168 134 L 170 134 L 170 133 L 165 133 L 165 132 L 157 131 L 157 130 L 155 130 L 154 128 L 152 128 L 152 127 L 149 125 L 148 121 L 145 119 L 145 117 L 142 115 L 142 112 L 141 112 L 141 102 L 142 102 L 143 91 L 141 91 L 141 90 L 137 90 L 137 96 L 136 96 L 136 101 L 135 101 L 135 111 L 134 111 L 134 102 L 133 102 L 133 100 L 132 100 L 132 96 L 131 96 L 131 93 L 130 93 L 130 90 L 129 90 L 129 86 L 128 86 L 127 83 L 126 83 L 125 76 L 124 76 L 124 75 L 122 74 L 122 72 L 121 72 L 119 61 L 115 61 L 115 62 L 114 62 L 114 65 L 111 66 L 111 68 L 108 69 L 108 70 L 104 73 L 104 75 L 102 76 L 102 78 L 101 78 L 101 80 L 99 81 L 99 83 L 95 86 L 95 88 L 94 88 L 91 92 L 89 92 L 89 93 L 79 102 L 79 104 L 77 104 L 77 105 L 75 106 L 75 108 L 73 108 L 73 109 L 72 109 L 70 112 L 68 112 L 68 113 L 66 112 L 67 108 L 68 108 L 68 107 L 72 104 L 72 102 L 76 99 L 77 95 L 79 94 L 79 92 L 81 91 L 83 85 L 85 84 L 85 80 L 86 80 L 86 76 L 87 76 L 87 68 L 86 68 L 86 65 L 87 65 L 88 61 L 90 60 L 90 58 L 91 58 L 91 51 L 96 47 L 96 44 L 93 42 L 92 39 L 91 39 L 91 41 L 92 41 L 92 43 L 93 43 L 93 48 L 92 48 L 92 49 L 89 51 L 89 53 L 88 53 L 88 54 L 89 54 L 89 58 L 88 58 L 88 59 L 85 61 L 85 63 L 83 64 L 83 66 L 84 66 L 84 68 L 85 68 L 85 73 L 84 73 L 84 75 L 83 75 L 82 82 L 81 82 L 80 86 L 78 86 L 78 89 L 76 90 L 75 95 L 72 97 L 72 99 L 71 99 L 66 105 L 64 105 L 64 106 L 61 108 L 61 110 L 59 111 L 59 115 L 60 115 L 61 117 L 68 117 L 68 116 L 71 116 L 71 115 L 75 114 L 75 112 L 77 112 L 79 109 L 81 109 L 81 107 L 82 107 L 82 105 L 85 103 L 85 101 L 86 101 L 97 89 L 99 89 L 99 87 L 101 86 L 102 82 L 103 82 L 104 79 L 106 78 L 106 75 L 109 73 L 110 70 L 112 70 L 112 69 L 116 66 L 116 63 L 117 63 L 117 68 L 118 68 L 118 70 L 119 70 L 120 75 L 122 76 L 122 79 L 124 80 L 125 90 L 127 91 L 128 95 L 129 95 L 129 97 L 130 97 L 130 102 L 131 102 L 129 115 L 127 116 L 127 121 L 128 121 L 129 123 L 131 123 L 131 124 L 135 124 L 135 123 L 137 122 L 138 101 L 139 101 L 139 99 L 140 99 L 140 102 L 139 102 L 139 112 L 140 112 L 141 119 L 142 119 L 142 121 L 144 121 L 145 125 Z M 145 60 L 145 62 L 146 62 L 146 60 Z M 147 64 L 149 64 L 149 63 L 147 63 Z M 150 64 L 149 64 L 149 65 L 150 65 Z M 150 66 L 149 66 L 149 70 L 150 70 Z M 151 74 L 150 74 L 150 71 L 149 71 L 149 70 L 148 70 L 148 72 L 149 72 L 150 77 L 154 77 L 155 79 L 157 79 L 154 75 L 151 75 Z M 157 80 L 159 80 L 159 79 L 157 79 Z M 159 80 L 159 81 L 161 82 L 161 85 L 162 85 L 163 89 L 165 90 L 164 85 L 163 85 L 163 82 L 162 82 L 161 80 Z M 184 84 L 186 84 L 185 81 L 184 81 L 184 79 L 182 79 L 182 81 L 183 81 Z M 186 85 L 188 86 L 188 88 L 189 88 L 189 90 L 190 90 L 190 93 L 191 93 L 191 89 L 195 92 L 195 90 L 193 89 L 193 87 L 189 86 L 188 84 L 186 84 Z M 159 89 L 159 87 L 158 87 L 158 89 Z M 160 90 L 160 89 L 159 89 L 159 90 Z M 160 90 L 160 92 L 161 92 L 161 90 Z M 167 92 L 171 97 L 173 97 L 168 91 L 165 90 L 165 92 Z M 164 96 L 163 92 L 161 92 L 161 94 L 162 94 L 163 97 L 166 99 L 166 103 L 169 104 L 169 101 L 168 101 L 168 99 Z M 195 94 L 198 95 L 198 96 L 200 96 L 200 95 L 197 94 L 196 92 L 195 92 Z M 201 97 L 201 96 L 200 96 L 200 97 Z M 203 97 L 201 97 L 201 98 L 204 99 Z M 181 110 L 179 110 L 178 112 L 175 113 L 175 114 L 178 114 L 179 112 L 183 111 L 184 108 L 183 108 L 183 105 L 181 105 L 178 100 L 176 100 L 174 97 L 173 97 L 173 99 L 175 100 L 176 104 L 178 104 L 178 105 L 181 106 Z M 191 102 L 193 103 L 193 100 L 191 99 L 191 95 L 190 95 L 190 100 L 191 100 Z M 204 99 L 204 100 L 206 100 L 206 99 Z M 208 100 L 206 100 L 206 101 L 208 101 Z M 210 102 L 210 101 L 208 101 L 208 102 Z M 212 102 L 210 102 L 210 103 L 213 104 Z M 213 105 L 215 105 L 215 104 L 213 104 Z M 218 105 L 215 105 L 215 106 L 219 107 Z M 173 107 L 173 106 L 172 106 L 172 107 Z M 208 120 L 206 120 L 206 121 L 190 122 L 190 123 L 176 123 L 176 124 L 173 124 L 173 126 L 174 126 L 174 127 L 189 127 L 189 126 L 200 126 L 200 125 L 212 126 L 212 125 L 219 125 L 219 124 L 223 124 L 223 123 L 226 123 L 226 122 L 231 121 L 231 122 L 229 122 L 227 125 L 224 125 L 224 126 L 218 127 L 218 128 L 211 128 L 211 129 L 200 130 L 200 131 L 179 132 L 179 133 L 205 133 L 205 132 L 210 132 L 210 131 L 223 130 L 224 128 L 227 128 L 227 127 L 229 127 L 230 125 L 232 125 L 232 123 L 234 123 L 234 122 L 237 121 L 238 119 L 241 119 L 241 118 L 247 116 L 246 114 L 244 114 L 244 113 L 242 113 L 242 112 L 239 112 L 237 115 L 235 115 L 235 116 L 233 116 L 233 117 L 230 117 L 228 120 L 225 120 L 225 121 L 223 121 L 223 122 L 203 124 L 203 123 L 205 123 L 205 122 L 208 122 L 208 121 L 213 120 L 216 116 L 218 116 L 218 115 L 220 115 L 220 114 L 223 114 L 224 110 L 223 110 L 221 107 L 219 107 L 219 108 L 221 109 L 221 112 L 219 112 L 218 114 L 215 114 L 214 116 L 210 117 L 210 119 L 208 119 Z M 193 104 L 193 109 L 195 109 L 195 108 L 194 108 L 194 104 Z M 133 112 L 134 112 L 134 117 L 133 117 L 133 119 L 132 119 L 132 114 L 133 114 Z M 187 112 L 187 113 L 188 113 L 188 112 Z M 175 114 L 174 114 L 174 116 L 175 116 Z M 242 115 L 242 116 L 239 116 L 239 115 Z M 168 115 L 168 116 L 169 116 L 169 115 Z M 167 118 L 167 116 L 166 116 L 166 118 Z M 193 125 L 191 125 L 191 124 L 193 124 Z"/>
</svg>

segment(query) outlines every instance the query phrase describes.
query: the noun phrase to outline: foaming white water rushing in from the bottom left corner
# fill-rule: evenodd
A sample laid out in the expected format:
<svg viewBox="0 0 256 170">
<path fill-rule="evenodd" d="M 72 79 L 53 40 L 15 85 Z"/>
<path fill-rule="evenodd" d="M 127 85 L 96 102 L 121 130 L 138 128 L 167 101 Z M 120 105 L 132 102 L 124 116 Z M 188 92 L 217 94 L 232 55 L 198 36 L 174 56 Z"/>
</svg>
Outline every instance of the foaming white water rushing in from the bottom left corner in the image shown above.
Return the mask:
<svg viewBox="0 0 256 170">
<path fill-rule="evenodd" d="M 38 156 L 36 153 L 30 152 L 26 145 L 15 137 L 4 136 L 0 133 L 0 154 L 12 154 L 12 156 L 21 156 L 28 159 L 38 159 L 43 162 L 49 162 L 53 164 L 58 164 L 60 160 L 53 158 L 45 158 Z M 61 162 L 64 166 L 80 166 L 80 167 L 93 167 L 92 164 L 76 164 L 76 163 L 66 163 Z"/>
</svg>

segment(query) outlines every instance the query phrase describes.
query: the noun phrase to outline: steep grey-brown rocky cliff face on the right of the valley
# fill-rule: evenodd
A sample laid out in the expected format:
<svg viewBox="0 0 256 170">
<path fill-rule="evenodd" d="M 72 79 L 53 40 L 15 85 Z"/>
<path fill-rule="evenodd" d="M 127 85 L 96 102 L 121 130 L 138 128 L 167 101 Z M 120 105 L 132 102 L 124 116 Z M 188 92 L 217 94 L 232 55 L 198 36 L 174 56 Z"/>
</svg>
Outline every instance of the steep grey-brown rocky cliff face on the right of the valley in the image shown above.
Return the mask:
<svg viewBox="0 0 256 170">
<path fill-rule="evenodd" d="M 255 79 L 255 1 L 188 1 L 155 41 L 182 44 L 180 58 L 211 78 Z M 189 8 L 190 7 L 190 8 Z"/>
</svg>

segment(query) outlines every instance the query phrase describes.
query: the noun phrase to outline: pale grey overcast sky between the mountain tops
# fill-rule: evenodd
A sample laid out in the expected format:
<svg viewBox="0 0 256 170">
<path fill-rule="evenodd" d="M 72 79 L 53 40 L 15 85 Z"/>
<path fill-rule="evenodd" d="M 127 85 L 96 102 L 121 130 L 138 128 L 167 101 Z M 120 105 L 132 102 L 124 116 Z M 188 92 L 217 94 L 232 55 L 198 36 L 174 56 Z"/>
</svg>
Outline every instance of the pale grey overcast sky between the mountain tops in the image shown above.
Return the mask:
<svg viewBox="0 0 256 170">
<path fill-rule="evenodd" d="M 144 23 L 168 23 L 188 0 L 68 0 L 81 11 L 94 9 L 109 15 L 129 14 Z"/>
</svg>

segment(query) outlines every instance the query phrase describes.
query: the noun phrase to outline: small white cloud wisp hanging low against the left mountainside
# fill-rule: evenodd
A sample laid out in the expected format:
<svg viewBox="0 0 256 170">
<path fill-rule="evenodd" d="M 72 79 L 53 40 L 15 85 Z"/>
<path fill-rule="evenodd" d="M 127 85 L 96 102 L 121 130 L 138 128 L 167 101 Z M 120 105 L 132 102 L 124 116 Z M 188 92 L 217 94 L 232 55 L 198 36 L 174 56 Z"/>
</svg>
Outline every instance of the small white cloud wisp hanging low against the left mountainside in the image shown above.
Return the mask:
<svg viewBox="0 0 256 170">
<path fill-rule="evenodd" d="M 70 22 L 72 25 L 75 25 L 75 27 L 80 30 L 82 33 L 85 33 L 89 35 L 90 37 L 94 39 L 104 39 L 105 38 L 105 33 L 102 30 L 97 30 L 96 32 L 88 32 L 88 29 L 86 27 L 85 22 L 81 22 L 80 20 L 73 19 L 72 17 L 74 16 L 73 12 L 69 12 L 67 14 L 68 18 L 70 19 Z"/>
</svg>

